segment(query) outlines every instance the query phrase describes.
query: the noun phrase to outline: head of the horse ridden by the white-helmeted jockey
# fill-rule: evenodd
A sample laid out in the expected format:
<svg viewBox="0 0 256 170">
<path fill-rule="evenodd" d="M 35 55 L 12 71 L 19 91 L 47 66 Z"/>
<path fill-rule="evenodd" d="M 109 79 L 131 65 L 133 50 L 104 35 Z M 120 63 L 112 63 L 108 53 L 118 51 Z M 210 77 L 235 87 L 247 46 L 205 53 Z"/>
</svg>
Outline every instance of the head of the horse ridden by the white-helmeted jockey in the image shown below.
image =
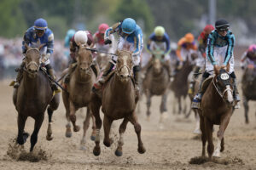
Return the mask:
<svg viewBox="0 0 256 170">
<path fill-rule="evenodd" d="M 87 50 L 86 46 L 80 45 L 77 59 L 80 73 L 90 74 L 90 66 L 92 65 L 91 51 Z"/>
</svg>

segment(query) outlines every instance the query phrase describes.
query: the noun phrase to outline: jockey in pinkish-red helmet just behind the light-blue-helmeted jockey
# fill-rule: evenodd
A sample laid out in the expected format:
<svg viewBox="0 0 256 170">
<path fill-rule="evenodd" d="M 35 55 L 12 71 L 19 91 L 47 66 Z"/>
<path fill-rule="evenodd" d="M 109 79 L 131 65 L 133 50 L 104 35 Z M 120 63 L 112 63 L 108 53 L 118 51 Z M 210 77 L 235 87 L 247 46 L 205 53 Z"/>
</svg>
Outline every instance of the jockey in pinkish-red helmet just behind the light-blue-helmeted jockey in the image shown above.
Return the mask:
<svg viewBox="0 0 256 170">
<path fill-rule="evenodd" d="M 96 43 L 96 48 L 108 53 L 114 53 L 113 51 L 113 44 L 114 44 L 114 37 L 111 34 L 109 36 L 109 39 L 113 42 L 112 44 L 105 44 L 104 43 L 104 34 L 105 31 L 107 31 L 109 28 L 108 24 L 101 24 L 98 27 L 98 31 L 93 35 L 94 42 Z"/>
</svg>

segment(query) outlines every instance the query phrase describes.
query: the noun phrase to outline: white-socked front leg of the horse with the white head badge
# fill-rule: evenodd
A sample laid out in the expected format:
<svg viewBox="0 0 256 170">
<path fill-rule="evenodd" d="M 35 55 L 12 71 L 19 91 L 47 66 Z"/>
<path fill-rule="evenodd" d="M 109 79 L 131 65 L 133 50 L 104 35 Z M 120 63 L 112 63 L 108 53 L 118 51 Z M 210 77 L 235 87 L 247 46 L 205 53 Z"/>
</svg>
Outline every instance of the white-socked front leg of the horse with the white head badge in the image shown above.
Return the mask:
<svg viewBox="0 0 256 170">
<path fill-rule="evenodd" d="M 221 149 L 224 150 L 224 140 L 223 140 L 223 138 L 224 138 L 224 131 L 228 127 L 228 124 L 230 122 L 230 117 L 231 117 L 231 113 L 225 114 L 224 116 L 221 117 L 221 121 L 220 121 L 220 125 L 219 125 L 219 130 L 217 132 L 217 138 L 218 138 L 217 148 L 216 148 L 216 150 L 214 150 L 214 153 L 212 155 L 214 157 L 220 157 L 220 150 Z"/>
</svg>

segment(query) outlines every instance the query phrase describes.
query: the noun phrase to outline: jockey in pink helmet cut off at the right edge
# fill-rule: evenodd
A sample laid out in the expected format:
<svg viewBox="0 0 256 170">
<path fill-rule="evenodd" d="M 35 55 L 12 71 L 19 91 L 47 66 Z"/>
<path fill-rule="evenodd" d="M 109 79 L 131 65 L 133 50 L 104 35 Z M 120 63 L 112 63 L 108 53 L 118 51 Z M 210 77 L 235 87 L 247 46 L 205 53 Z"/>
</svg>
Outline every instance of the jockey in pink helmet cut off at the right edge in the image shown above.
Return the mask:
<svg viewBox="0 0 256 170">
<path fill-rule="evenodd" d="M 256 65 L 256 44 L 250 45 L 247 51 L 241 56 L 241 69 L 244 70 L 249 64 Z"/>
</svg>

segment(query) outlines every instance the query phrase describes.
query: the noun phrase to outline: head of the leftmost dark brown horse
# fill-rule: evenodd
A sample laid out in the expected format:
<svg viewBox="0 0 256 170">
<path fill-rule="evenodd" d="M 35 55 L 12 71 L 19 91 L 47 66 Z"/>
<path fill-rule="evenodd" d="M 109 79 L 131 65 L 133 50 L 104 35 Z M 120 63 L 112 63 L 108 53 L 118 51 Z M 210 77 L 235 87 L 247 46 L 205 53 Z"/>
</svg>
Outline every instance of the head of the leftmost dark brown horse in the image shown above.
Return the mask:
<svg viewBox="0 0 256 170">
<path fill-rule="evenodd" d="M 39 67 L 40 67 L 40 49 L 43 46 L 40 46 L 39 48 L 31 48 L 27 44 L 26 46 L 26 56 L 25 56 L 25 68 L 26 71 L 29 73 L 29 77 L 34 78 L 36 77 Z"/>
</svg>

